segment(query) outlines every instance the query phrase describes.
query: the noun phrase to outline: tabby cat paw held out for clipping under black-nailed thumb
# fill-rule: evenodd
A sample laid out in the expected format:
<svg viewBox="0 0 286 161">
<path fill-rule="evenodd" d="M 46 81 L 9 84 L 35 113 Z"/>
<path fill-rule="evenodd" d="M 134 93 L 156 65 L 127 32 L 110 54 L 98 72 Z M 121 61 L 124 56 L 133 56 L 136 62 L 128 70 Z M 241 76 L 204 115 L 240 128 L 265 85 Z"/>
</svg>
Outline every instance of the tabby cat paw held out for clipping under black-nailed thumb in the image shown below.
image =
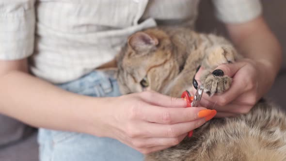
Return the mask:
<svg viewBox="0 0 286 161">
<path fill-rule="evenodd" d="M 231 85 L 232 79 L 225 76 L 221 69 L 215 71 L 205 71 L 200 78 L 202 85 L 204 86 L 204 92 L 208 96 L 213 96 L 216 93 L 223 93 L 227 91 Z"/>
</svg>

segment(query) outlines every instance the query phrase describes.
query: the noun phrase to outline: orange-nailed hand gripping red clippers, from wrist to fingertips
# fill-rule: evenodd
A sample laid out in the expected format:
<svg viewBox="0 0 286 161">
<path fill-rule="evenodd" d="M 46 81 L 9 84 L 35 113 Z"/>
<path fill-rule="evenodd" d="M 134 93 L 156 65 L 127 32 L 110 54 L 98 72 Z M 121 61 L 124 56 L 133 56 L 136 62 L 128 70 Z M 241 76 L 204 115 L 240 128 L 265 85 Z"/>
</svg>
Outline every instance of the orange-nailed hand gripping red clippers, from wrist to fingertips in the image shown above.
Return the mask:
<svg viewBox="0 0 286 161">
<path fill-rule="evenodd" d="M 213 113 L 202 107 L 186 108 L 186 101 L 181 98 L 151 91 L 109 97 L 106 103 L 108 106 L 101 113 L 105 120 L 103 136 L 117 139 L 144 154 L 179 144 L 189 131 L 202 126 Z"/>
</svg>

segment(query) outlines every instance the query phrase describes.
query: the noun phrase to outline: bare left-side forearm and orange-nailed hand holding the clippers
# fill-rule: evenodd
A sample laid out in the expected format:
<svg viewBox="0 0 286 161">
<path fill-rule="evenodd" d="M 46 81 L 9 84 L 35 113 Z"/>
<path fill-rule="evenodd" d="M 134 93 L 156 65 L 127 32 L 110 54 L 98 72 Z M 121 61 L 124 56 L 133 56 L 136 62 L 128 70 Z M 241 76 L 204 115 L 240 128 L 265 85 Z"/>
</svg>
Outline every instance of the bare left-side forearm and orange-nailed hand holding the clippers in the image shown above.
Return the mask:
<svg viewBox="0 0 286 161">
<path fill-rule="evenodd" d="M 34 127 L 111 137 L 149 153 L 178 144 L 211 117 L 205 108 L 185 108 L 182 98 L 150 91 L 121 97 L 70 93 L 23 72 L 26 63 L 0 61 L 0 113 Z"/>
</svg>

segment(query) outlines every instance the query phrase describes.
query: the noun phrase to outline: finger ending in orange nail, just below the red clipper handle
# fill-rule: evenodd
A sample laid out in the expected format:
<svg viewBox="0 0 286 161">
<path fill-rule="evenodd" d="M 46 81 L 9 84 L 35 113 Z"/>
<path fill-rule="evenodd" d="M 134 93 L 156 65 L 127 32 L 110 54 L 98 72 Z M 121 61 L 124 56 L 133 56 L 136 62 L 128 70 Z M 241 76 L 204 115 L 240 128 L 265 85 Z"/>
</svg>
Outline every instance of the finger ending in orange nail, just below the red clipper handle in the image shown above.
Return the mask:
<svg viewBox="0 0 286 161">
<path fill-rule="evenodd" d="M 198 113 L 206 110 L 203 107 L 191 108 L 163 108 L 158 106 L 148 106 L 141 109 L 143 120 L 159 124 L 175 124 L 190 122 L 199 119 Z"/>
</svg>

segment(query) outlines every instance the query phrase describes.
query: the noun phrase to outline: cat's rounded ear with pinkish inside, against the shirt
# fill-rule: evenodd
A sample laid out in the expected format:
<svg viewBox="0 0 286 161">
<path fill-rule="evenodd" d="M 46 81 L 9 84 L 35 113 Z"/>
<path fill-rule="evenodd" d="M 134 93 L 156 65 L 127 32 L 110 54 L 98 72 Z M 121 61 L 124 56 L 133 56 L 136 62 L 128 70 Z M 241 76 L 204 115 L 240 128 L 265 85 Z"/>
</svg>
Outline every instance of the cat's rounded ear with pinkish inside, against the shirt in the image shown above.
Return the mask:
<svg viewBox="0 0 286 161">
<path fill-rule="evenodd" d="M 136 32 L 128 38 L 128 45 L 135 51 L 149 51 L 158 45 L 158 39 L 145 32 Z"/>
</svg>

